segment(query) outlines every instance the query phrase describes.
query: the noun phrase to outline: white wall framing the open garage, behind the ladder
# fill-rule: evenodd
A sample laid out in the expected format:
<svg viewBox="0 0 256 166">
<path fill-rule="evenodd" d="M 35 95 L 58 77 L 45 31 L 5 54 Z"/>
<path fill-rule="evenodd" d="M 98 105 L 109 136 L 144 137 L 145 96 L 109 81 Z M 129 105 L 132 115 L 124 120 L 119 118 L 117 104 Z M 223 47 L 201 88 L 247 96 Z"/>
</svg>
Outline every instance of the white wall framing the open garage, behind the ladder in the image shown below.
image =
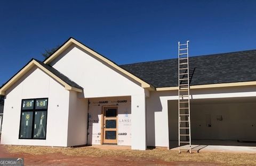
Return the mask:
<svg viewBox="0 0 256 166">
<path fill-rule="evenodd" d="M 255 86 L 240 86 L 231 88 L 200 89 L 191 90 L 190 94 L 191 99 L 256 97 L 256 88 Z M 168 119 L 169 100 L 178 100 L 178 91 L 151 92 L 150 97 L 147 98 L 148 146 L 169 147 L 169 139 L 175 139 L 175 136 L 169 138 L 168 124 L 173 123 L 173 121 L 169 121 Z M 177 103 L 174 104 L 174 107 L 178 107 Z M 172 129 L 170 128 L 170 130 Z"/>
</svg>

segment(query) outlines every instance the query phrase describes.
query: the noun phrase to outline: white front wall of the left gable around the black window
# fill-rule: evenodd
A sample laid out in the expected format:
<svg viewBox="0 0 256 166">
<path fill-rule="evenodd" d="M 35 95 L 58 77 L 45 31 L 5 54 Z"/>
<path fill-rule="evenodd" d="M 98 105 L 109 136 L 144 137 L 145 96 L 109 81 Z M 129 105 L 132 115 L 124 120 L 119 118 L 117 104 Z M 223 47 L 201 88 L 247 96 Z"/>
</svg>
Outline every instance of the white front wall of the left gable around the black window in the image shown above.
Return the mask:
<svg viewBox="0 0 256 166">
<path fill-rule="evenodd" d="M 49 98 L 45 140 L 19 139 L 21 100 L 33 98 Z M 68 103 L 69 91 L 34 67 L 6 91 L 1 144 L 67 146 Z"/>
</svg>

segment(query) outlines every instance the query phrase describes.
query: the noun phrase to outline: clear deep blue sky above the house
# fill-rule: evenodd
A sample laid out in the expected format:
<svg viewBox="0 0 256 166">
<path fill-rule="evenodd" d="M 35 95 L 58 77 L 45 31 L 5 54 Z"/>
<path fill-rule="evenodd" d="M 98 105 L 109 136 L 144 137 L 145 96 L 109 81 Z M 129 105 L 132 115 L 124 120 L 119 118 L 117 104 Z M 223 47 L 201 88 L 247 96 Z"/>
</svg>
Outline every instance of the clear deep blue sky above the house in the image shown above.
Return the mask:
<svg viewBox="0 0 256 166">
<path fill-rule="evenodd" d="M 69 37 L 117 64 L 256 49 L 256 1 L 0 1 L 0 86 Z"/>
</svg>

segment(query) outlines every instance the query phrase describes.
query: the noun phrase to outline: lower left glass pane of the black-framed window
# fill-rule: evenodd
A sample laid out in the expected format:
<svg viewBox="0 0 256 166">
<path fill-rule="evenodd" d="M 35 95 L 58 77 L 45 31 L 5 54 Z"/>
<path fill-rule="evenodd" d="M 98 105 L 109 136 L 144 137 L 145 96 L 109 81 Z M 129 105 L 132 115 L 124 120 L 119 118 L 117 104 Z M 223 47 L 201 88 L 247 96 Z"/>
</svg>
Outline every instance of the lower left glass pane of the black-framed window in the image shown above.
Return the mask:
<svg viewBox="0 0 256 166">
<path fill-rule="evenodd" d="M 21 112 L 20 138 L 31 138 L 33 112 Z"/>
</svg>

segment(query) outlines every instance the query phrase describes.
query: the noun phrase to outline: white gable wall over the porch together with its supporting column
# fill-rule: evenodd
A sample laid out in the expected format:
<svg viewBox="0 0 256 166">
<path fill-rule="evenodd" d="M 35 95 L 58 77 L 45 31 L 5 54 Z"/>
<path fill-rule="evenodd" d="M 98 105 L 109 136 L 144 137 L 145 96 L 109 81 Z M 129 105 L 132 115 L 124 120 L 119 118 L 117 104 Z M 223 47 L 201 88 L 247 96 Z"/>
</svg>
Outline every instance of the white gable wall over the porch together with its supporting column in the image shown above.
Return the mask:
<svg viewBox="0 0 256 166">
<path fill-rule="evenodd" d="M 50 65 L 84 88 L 80 98 L 131 96 L 132 148 L 146 149 L 145 90 L 137 82 L 75 45 Z"/>
</svg>

